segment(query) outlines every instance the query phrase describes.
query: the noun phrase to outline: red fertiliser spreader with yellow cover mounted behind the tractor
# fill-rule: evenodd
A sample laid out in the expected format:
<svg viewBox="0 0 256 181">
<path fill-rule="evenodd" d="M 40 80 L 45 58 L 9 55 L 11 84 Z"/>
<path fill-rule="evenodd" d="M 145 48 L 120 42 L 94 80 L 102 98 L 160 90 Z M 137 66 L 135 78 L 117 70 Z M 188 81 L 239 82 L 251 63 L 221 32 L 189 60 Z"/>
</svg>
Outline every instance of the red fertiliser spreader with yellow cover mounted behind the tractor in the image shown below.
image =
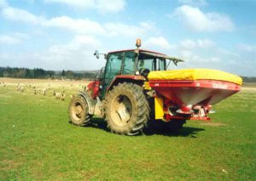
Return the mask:
<svg viewBox="0 0 256 181">
<path fill-rule="evenodd" d="M 155 119 L 166 121 L 210 120 L 212 105 L 241 88 L 241 77 L 209 69 L 153 71 L 148 79 L 155 91 Z"/>
</svg>

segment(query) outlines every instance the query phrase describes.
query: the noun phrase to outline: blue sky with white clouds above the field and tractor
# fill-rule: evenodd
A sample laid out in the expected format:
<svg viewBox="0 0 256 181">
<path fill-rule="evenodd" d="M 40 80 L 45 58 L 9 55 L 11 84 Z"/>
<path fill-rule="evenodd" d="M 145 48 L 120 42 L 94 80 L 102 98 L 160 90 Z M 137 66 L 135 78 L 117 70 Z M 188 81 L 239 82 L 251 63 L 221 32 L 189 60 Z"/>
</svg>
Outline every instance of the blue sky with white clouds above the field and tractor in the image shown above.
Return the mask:
<svg viewBox="0 0 256 181">
<path fill-rule="evenodd" d="M 142 48 L 256 76 L 256 0 L 0 0 L 0 66 L 99 70 L 97 49 Z"/>
</svg>

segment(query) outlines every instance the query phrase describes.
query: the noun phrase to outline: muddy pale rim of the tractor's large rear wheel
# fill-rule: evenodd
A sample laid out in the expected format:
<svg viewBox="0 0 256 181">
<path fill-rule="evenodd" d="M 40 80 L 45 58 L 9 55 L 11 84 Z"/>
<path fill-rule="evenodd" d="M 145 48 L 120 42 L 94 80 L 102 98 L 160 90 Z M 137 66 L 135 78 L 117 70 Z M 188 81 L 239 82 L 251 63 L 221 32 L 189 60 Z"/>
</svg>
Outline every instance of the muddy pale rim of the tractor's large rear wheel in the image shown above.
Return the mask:
<svg viewBox="0 0 256 181">
<path fill-rule="evenodd" d="M 113 100 L 111 115 L 113 122 L 119 127 L 125 127 L 131 120 L 131 100 L 125 95 L 119 95 Z"/>
</svg>

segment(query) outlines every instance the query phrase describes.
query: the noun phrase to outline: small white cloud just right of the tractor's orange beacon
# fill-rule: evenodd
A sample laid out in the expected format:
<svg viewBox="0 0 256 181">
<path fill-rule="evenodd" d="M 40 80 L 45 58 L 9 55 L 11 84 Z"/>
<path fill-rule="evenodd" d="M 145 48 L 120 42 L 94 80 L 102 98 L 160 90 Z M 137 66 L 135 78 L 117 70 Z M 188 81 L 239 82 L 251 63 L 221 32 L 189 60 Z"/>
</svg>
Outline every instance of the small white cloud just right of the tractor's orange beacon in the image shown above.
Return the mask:
<svg viewBox="0 0 256 181">
<path fill-rule="evenodd" d="M 143 44 L 145 48 L 174 48 L 164 37 L 149 37 Z"/>
</svg>

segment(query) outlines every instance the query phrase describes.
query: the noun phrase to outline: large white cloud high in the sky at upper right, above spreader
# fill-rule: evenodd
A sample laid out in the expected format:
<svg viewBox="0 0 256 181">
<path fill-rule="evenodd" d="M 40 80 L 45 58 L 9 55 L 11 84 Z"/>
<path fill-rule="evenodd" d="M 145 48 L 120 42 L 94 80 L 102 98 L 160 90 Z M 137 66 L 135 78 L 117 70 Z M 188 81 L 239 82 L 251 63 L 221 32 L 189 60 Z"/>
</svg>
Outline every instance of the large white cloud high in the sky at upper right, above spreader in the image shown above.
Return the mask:
<svg viewBox="0 0 256 181">
<path fill-rule="evenodd" d="M 204 13 L 200 8 L 183 5 L 171 17 L 177 17 L 189 30 L 199 32 L 233 31 L 235 25 L 226 14 Z"/>
</svg>

